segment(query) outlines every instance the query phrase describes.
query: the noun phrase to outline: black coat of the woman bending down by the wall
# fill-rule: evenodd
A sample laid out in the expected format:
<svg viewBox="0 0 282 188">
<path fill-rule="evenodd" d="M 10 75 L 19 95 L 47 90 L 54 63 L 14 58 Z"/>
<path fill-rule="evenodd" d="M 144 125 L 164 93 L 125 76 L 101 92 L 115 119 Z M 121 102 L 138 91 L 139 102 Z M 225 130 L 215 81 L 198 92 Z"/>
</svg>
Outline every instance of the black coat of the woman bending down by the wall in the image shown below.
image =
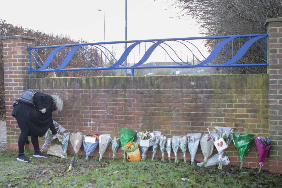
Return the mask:
<svg viewBox="0 0 282 188">
<path fill-rule="evenodd" d="M 33 135 L 42 137 L 49 128 L 53 134 L 57 134 L 52 119 L 52 112 L 56 110 L 56 106 L 53 104 L 53 98 L 48 94 L 36 92 L 34 94 L 34 105 L 36 107 L 20 102 L 15 105 L 12 116 L 23 115 Z M 39 111 L 44 108 L 46 108 L 45 113 Z"/>
</svg>

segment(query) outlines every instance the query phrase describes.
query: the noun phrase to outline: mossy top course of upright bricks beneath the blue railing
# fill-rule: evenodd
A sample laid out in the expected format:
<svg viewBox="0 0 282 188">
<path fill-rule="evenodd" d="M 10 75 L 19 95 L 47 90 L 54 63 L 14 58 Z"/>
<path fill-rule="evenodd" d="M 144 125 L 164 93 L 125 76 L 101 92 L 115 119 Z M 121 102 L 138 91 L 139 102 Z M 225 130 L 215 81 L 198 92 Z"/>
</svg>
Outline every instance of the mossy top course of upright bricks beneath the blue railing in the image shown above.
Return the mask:
<svg viewBox="0 0 282 188">
<path fill-rule="evenodd" d="M 267 74 L 27 78 L 26 82 L 28 88 L 37 89 L 268 89 Z"/>
</svg>

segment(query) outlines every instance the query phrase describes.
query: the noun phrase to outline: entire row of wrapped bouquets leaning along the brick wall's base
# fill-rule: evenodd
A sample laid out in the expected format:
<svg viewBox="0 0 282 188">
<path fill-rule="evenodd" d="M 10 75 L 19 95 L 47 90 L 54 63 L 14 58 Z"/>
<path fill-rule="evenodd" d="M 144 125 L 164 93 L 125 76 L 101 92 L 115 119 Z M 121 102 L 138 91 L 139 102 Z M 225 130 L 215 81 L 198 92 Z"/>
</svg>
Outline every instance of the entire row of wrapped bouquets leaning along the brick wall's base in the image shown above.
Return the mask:
<svg viewBox="0 0 282 188">
<path fill-rule="evenodd" d="M 114 159 L 116 150 L 118 149 L 121 143 L 121 149 L 124 150 L 124 161 L 126 155 L 127 159 L 130 161 L 144 160 L 146 158 L 146 152 L 149 147 L 152 147 L 153 160 L 159 146 L 162 153 L 161 161 L 164 161 L 164 153 L 166 150 L 168 154 L 168 160 L 170 162 L 170 154 L 172 148 L 173 153 L 175 155 L 174 162 L 178 163 L 177 153 L 178 148 L 180 147 L 183 152 L 184 161 L 186 162 L 186 148 L 188 147 L 189 152 L 191 154 L 191 165 L 194 165 L 194 158 L 198 150 L 198 145 L 200 144 L 204 160 L 202 163 L 198 163 L 197 165 L 209 166 L 218 163 L 218 168 L 222 169 L 222 165 L 229 163 L 229 159 L 225 155 L 224 150 L 229 146 L 229 144 L 233 140 L 234 145 L 239 149 L 241 157 L 240 162 L 242 168 L 243 158 L 248 152 L 248 150 L 251 148 L 254 141 L 258 149 L 261 171 L 261 166 L 263 166 L 264 159 L 271 146 L 271 144 L 263 143 L 260 137 L 257 137 L 255 139 L 255 135 L 253 134 L 233 133 L 233 129 L 230 127 L 215 127 L 212 132 L 210 132 L 208 129 L 209 134 L 203 134 L 203 136 L 201 136 L 201 133 L 188 133 L 187 136 L 174 136 L 172 138 L 166 138 L 166 136 L 161 135 L 161 132 L 159 131 L 136 132 L 135 130 L 122 127 L 122 129 L 119 130 L 120 138 L 111 138 L 110 134 L 83 135 L 79 131 L 74 132 L 73 134 L 63 133 L 65 129 L 61 125 L 59 125 L 55 121 L 54 125 L 57 131 L 62 134 L 63 139 L 61 145 L 55 144 L 54 146 L 51 146 L 47 154 L 56 155 L 58 157 L 66 157 L 68 141 L 70 140 L 74 148 L 76 158 L 78 157 L 77 153 L 80 147 L 82 145 L 84 146 L 84 150 L 86 152 L 86 160 L 88 159 L 88 156 L 96 149 L 98 144 L 100 154 L 99 160 L 102 159 L 102 156 L 106 149 L 109 147 L 109 144 L 111 144 Z M 137 142 L 134 143 L 133 140 L 136 136 Z M 49 144 L 54 139 L 56 139 L 56 136 L 52 135 L 52 132 L 49 129 L 45 134 L 45 142 L 41 151 L 46 148 L 47 144 Z M 216 147 L 218 154 L 209 158 L 213 153 L 214 146 Z M 141 156 L 139 147 L 143 152 Z"/>
</svg>

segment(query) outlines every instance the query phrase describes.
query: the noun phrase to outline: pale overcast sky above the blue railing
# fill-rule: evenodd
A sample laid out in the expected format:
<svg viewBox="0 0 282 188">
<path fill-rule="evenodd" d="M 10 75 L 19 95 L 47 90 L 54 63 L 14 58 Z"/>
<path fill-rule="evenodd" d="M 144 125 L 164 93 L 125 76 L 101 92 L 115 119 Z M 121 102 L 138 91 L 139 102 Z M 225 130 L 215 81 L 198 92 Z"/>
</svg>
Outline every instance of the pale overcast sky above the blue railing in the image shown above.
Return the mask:
<svg viewBox="0 0 282 188">
<path fill-rule="evenodd" d="M 178 17 L 172 2 L 128 0 L 127 40 L 201 36 L 195 21 Z M 125 0 L 13 0 L 1 1 L 1 7 L 1 19 L 10 24 L 88 42 L 104 41 L 105 10 L 106 41 L 124 40 Z"/>
</svg>

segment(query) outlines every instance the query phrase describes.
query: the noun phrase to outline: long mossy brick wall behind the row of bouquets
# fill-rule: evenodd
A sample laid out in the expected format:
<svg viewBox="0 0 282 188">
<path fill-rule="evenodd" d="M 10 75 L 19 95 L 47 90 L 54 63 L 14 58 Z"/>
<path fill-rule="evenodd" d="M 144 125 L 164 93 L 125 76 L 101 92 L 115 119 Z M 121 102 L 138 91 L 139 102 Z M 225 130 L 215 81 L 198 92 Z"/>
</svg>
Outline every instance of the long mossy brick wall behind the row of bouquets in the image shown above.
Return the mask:
<svg viewBox="0 0 282 188">
<path fill-rule="evenodd" d="M 137 131 L 158 130 L 172 137 L 207 133 L 207 127 L 223 126 L 234 127 L 238 133 L 269 136 L 267 74 L 33 78 L 26 84 L 27 88 L 63 98 L 63 113 L 53 118 L 69 132 L 79 129 L 119 137 L 119 128 L 125 126 Z M 19 129 L 7 130 L 9 135 L 19 133 Z M 8 137 L 8 143 L 16 143 L 16 139 Z M 17 145 L 9 147 L 17 149 Z M 71 144 L 68 152 L 73 153 Z M 96 149 L 92 155 L 99 156 L 98 152 Z M 122 152 L 119 149 L 117 157 L 122 157 Z M 233 143 L 226 152 L 231 164 L 240 164 Z M 79 154 L 85 155 L 83 147 Z M 180 149 L 178 155 L 182 157 Z M 110 148 L 104 156 L 111 157 Z M 156 157 L 160 156 L 158 152 Z M 203 160 L 200 147 L 196 160 Z M 244 161 L 244 166 L 258 167 L 254 144 Z M 264 168 L 268 168 L 268 159 Z"/>
</svg>

